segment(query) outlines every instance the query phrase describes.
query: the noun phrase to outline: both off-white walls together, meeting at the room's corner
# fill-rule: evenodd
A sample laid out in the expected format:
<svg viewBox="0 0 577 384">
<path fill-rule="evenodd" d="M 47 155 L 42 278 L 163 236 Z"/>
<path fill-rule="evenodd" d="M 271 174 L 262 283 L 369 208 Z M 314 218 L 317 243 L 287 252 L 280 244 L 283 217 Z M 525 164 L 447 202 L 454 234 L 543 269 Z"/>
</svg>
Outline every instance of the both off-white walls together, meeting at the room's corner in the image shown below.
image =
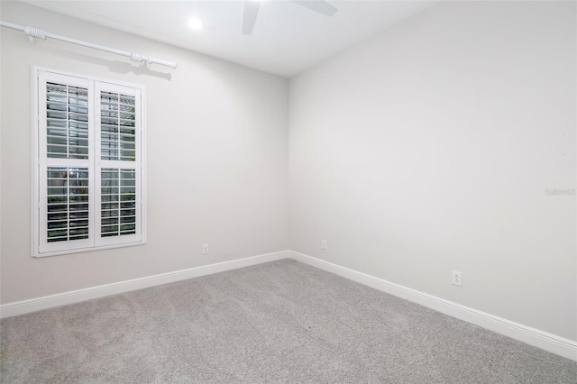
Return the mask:
<svg viewBox="0 0 577 384">
<path fill-rule="evenodd" d="M 574 3 L 435 5 L 290 87 L 0 6 L 6 22 L 179 63 L 149 71 L 0 28 L 1 303 L 290 248 L 577 340 L 575 197 L 545 195 L 576 184 Z M 147 87 L 147 245 L 30 257 L 32 65 Z"/>
</svg>

